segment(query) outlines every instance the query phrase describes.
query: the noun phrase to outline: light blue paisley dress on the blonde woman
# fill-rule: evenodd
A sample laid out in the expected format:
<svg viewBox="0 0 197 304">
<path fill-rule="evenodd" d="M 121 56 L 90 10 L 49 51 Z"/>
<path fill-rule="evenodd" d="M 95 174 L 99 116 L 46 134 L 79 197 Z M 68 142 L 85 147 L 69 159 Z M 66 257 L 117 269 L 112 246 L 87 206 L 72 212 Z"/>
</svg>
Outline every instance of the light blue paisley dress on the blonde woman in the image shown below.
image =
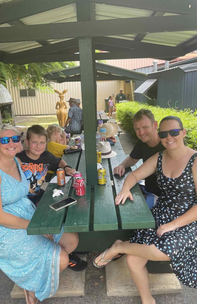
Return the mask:
<svg viewBox="0 0 197 304">
<path fill-rule="evenodd" d="M 21 182 L 0 169 L 1 199 L 4 212 L 30 220 L 35 206 L 27 198 L 29 185 L 17 159 Z M 42 235 L 27 235 L 25 229 L 0 226 L 0 269 L 18 286 L 34 291 L 40 300 L 51 297 L 58 288 L 62 237 L 54 234 L 54 241 Z"/>
</svg>

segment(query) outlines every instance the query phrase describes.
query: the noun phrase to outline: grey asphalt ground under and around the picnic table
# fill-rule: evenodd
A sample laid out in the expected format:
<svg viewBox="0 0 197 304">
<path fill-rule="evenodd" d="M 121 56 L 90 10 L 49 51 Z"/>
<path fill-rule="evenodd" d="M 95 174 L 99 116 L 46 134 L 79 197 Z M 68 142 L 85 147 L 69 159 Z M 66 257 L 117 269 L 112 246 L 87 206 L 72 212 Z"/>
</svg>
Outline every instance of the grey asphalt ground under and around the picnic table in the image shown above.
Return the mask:
<svg viewBox="0 0 197 304">
<path fill-rule="evenodd" d="M 134 145 L 131 136 L 120 134 L 125 154 L 129 154 Z M 44 304 L 141 304 L 139 297 L 107 297 L 104 268 L 92 265 L 92 256 L 88 256 L 88 268 L 85 273 L 85 296 L 47 299 Z M 0 304 L 25 304 L 25 299 L 11 299 L 10 292 L 14 283 L 0 271 Z M 196 304 L 197 289 L 182 285 L 182 293 L 154 296 L 157 304 Z"/>
</svg>

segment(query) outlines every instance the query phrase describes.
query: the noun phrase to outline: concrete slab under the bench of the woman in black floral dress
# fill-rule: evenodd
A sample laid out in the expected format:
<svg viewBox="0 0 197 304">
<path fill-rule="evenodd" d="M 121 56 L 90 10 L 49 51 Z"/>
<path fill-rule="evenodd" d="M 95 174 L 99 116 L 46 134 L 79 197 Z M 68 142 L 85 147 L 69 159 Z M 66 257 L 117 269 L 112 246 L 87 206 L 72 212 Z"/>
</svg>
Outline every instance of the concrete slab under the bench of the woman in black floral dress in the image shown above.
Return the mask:
<svg viewBox="0 0 197 304">
<path fill-rule="evenodd" d="M 139 292 L 129 273 L 126 257 L 110 262 L 105 267 L 107 295 L 115 297 L 138 296 Z M 149 274 L 152 295 L 179 293 L 182 291 L 173 273 Z"/>
</svg>

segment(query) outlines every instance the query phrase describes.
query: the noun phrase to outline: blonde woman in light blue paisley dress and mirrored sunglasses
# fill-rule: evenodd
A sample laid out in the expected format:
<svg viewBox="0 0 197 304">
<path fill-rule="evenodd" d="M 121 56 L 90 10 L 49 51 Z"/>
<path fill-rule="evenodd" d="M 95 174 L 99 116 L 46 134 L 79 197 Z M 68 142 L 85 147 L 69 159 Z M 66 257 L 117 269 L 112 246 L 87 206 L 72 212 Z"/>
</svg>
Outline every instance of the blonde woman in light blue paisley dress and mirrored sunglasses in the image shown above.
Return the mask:
<svg viewBox="0 0 197 304">
<path fill-rule="evenodd" d="M 1 125 L 0 269 L 24 288 L 27 304 L 35 304 L 56 292 L 59 273 L 67 268 L 78 235 L 64 233 L 63 228 L 60 234 L 27 235 L 35 206 L 27 198 L 29 185 L 15 157 L 20 148 L 18 131 Z"/>
</svg>

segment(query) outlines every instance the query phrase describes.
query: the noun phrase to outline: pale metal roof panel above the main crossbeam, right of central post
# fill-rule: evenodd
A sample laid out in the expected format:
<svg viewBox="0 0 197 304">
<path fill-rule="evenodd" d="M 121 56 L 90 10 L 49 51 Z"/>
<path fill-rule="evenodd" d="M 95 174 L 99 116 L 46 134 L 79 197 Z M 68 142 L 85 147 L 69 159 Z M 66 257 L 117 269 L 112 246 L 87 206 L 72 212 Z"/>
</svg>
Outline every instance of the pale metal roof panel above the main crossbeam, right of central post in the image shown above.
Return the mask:
<svg viewBox="0 0 197 304">
<path fill-rule="evenodd" d="M 107 4 L 95 4 L 96 20 L 150 17 L 152 13 L 153 11 L 147 11 L 144 9 L 133 9 L 129 7 Z"/>
</svg>

